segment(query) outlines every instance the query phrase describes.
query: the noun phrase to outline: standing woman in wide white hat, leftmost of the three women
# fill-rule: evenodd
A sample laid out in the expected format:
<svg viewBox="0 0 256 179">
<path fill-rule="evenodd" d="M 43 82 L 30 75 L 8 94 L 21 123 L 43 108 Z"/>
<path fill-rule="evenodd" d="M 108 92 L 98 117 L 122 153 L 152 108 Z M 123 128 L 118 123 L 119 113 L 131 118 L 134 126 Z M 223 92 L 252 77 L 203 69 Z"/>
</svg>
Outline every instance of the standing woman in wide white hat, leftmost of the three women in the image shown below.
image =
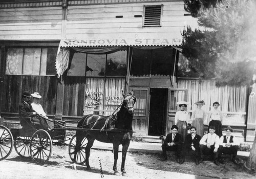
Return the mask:
<svg viewBox="0 0 256 179">
<path fill-rule="evenodd" d="M 175 114 L 175 124 L 178 126 L 178 133 L 182 136 L 182 141 L 185 141 L 187 136 L 187 121 L 189 120 L 188 112 L 185 111 L 185 107 L 187 107 L 188 102 L 179 101 L 177 102 L 180 110 Z"/>
</svg>

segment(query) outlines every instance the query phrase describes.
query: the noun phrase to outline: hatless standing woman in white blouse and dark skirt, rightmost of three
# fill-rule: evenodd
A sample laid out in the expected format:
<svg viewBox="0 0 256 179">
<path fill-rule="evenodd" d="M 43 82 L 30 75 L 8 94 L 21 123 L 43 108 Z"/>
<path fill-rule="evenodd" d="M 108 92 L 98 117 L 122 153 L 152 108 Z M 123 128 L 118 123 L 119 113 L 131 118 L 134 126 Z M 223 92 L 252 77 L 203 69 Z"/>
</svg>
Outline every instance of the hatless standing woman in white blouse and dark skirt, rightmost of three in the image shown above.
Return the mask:
<svg viewBox="0 0 256 179">
<path fill-rule="evenodd" d="M 222 119 L 223 119 L 223 115 L 222 112 L 218 109 L 218 107 L 220 106 L 219 102 L 214 102 L 214 104 L 212 104 L 212 106 L 214 106 L 213 109 L 210 110 L 210 115 L 209 115 L 209 126 L 215 126 L 215 133 L 221 137 L 222 136 Z M 208 128 L 208 132 L 209 132 L 209 128 Z"/>
</svg>

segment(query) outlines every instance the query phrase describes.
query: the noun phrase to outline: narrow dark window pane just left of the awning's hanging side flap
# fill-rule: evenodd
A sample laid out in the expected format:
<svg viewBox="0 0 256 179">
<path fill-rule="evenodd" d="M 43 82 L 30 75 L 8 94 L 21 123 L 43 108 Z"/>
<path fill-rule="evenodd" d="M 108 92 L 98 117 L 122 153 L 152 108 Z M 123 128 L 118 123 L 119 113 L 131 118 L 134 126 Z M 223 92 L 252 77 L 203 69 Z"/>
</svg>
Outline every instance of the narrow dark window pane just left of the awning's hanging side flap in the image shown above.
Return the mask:
<svg viewBox="0 0 256 179">
<path fill-rule="evenodd" d="M 55 68 L 55 60 L 57 54 L 57 47 L 48 48 L 47 50 L 47 68 L 46 68 L 46 75 L 55 75 L 56 68 Z"/>
</svg>

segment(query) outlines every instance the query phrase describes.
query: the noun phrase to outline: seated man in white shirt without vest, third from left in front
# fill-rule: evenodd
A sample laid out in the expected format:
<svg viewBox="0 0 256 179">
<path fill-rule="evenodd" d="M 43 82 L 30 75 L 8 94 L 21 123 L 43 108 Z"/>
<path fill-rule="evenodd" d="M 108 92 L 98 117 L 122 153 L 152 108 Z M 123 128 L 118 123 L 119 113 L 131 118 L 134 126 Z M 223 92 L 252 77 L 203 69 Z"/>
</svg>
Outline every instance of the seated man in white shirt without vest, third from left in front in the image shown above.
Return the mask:
<svg viewBox="0 0 256 179">
<path fill-rule="evenodd" d="M 209 127 L 209 133 L 204 135 L 200 140 L 200 155 L 201 160 L 200 163 L 203 161 L 203 155 L 211 155 L 214 158 L 214 163 L 219 165 L 218 162 L 218 148 L 220 143 L 220 138 L 215 133 L 215 126 Z"/>
</svg>

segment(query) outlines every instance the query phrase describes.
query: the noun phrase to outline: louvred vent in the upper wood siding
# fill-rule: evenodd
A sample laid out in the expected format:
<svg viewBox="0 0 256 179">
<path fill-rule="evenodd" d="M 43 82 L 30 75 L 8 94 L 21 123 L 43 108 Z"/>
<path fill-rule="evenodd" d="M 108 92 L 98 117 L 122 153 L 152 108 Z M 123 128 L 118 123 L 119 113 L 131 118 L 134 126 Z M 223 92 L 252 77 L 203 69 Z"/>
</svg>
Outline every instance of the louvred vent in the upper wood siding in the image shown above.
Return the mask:
<svg viewBox="0 0 256 179">
<path fill-rule="evenodd" d="M 162 6 L 145 6 L 144 27 L 161 26 Z"/>
</svg>

